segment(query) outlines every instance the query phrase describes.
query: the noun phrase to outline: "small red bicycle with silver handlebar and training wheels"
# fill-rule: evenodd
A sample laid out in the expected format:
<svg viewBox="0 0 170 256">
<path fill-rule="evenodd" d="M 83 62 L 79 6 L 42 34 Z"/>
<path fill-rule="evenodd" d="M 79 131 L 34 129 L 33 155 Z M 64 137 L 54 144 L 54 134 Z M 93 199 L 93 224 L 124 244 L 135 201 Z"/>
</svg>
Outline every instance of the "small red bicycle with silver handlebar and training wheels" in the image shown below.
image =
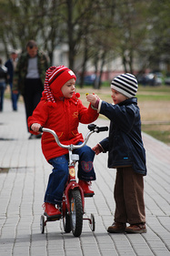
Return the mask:
<svg viewBox="0 0 170 256">
<path fill-rule="evenodd" d="M 91 218 L 83 218 L 85 213 L 85 197 L 84 191 L 76 182 L 75 179 L 75 163 L 79 160 L 77 154 L 73 154 L 75 148 L 82 148 L 87 143 L 88 139 L 94 132 L 107 131 L 107 127 L 96 127 L 95 124 L 88 125 L 88 133 L 85 136 L 85 141 L 81 145 L 64 145 L 61 144 L 59 138 L 55 134 L 55 131 L 49 128 L 40 128 L 41 132 L 49 132 L 55 137 L 55 141 L 61 148 L 67 148 L 69 154 L 68 160 L 68 169 L 69 169 L 69 178 L 65 185 L 65 191 L 63 194 L 63 201 L 61 205 L 62 215 L 58 219 L 47 218 L 42 215 L 40 219 L 40 230 L 42 233 L 45 232 L 45 225 L 47 221 L 55 221 L 63 219 L 63 226 L 66 233 L 72 231 L 75 237 L 79 237 L 82 233 L 83 220 L 89 221 L 89 226 L 92 231 L 95 231 L 95 217 L 94 214 L 91 214 Z"/>
</svg>

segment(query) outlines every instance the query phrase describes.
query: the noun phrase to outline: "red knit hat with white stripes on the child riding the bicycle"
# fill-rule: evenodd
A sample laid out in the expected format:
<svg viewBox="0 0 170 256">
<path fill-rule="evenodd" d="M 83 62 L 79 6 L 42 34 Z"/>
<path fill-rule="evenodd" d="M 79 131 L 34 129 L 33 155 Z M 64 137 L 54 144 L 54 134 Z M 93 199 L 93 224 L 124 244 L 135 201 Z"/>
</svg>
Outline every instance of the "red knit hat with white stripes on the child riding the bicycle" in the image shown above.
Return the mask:
<svg viewBox="0 0 170 256">
<path fill-rule="evenodd" d="M 44 96 L 47 98 L 49 106 L 55 107 L 56 105 L 53 92 L 55 95 L 57 94 L 57 97 L 63 97 L 61 88 L 71 78 L 76 79 L 75 73 L 65 66 L 53 66 L 46 70 Z"/>
</svg>

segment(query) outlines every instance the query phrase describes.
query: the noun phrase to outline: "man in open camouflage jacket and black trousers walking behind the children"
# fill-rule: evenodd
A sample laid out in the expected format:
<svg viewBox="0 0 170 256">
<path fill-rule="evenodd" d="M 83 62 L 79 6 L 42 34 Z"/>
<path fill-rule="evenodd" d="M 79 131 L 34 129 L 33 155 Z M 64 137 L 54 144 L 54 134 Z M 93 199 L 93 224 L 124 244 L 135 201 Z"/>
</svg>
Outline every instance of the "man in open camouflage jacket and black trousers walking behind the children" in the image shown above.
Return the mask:
<svg viewBox="0 0 170 256">
<path fill-rule="evenodd" d="M 13 81 L 13 92 L 15 94 L 20 92 L 24 97 L 26 123 L 42 97 L 47 68 L 47 57 L 38 50 L 35 41 L 30 40 L 26 45 L 26 52 L 18 59 Z M 29 138 L 41 138 L 41 136 L 31 134 Z"/>
</svg>

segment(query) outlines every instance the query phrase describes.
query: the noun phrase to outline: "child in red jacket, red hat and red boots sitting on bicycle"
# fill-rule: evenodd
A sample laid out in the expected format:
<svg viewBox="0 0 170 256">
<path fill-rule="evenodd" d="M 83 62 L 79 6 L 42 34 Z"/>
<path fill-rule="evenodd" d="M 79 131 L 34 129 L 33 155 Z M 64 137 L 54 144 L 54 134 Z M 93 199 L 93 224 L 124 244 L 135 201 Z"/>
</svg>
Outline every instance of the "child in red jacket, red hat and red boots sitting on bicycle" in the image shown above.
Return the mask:
<svg viewBox="0 0 170 256">
<path fill-rule="evenodd" d="M 55 130 L 60 142 L 65 145 L 77 144 L 84 141 L 78 132 L 79 122 L 89 124 L 98 118 L 97 111 L 83 106 L 75 93 L 75 74 L 65 66 L 50 67 L 46 71 L 45 91 L 35 108 L 33 115 L 28 118 L 30 132 L 38 134 L 40 127 Z M 45 215 L 55 218 L 61 212 L 55 208 L 62 202 L 65 183 L 68 179 L 68 150 L 60 148 L 55 138 L 44 133 L 42 136 L 42 150 L 45 159 L 53 166 L 45 191 Z M 90 189 L 91 181 L 95 180 L 93 160 L 95 152 L 88 146 L 75 149 L 79 155 L 78 179 L 85 196 L 93 196 Z"/>
</svg>

